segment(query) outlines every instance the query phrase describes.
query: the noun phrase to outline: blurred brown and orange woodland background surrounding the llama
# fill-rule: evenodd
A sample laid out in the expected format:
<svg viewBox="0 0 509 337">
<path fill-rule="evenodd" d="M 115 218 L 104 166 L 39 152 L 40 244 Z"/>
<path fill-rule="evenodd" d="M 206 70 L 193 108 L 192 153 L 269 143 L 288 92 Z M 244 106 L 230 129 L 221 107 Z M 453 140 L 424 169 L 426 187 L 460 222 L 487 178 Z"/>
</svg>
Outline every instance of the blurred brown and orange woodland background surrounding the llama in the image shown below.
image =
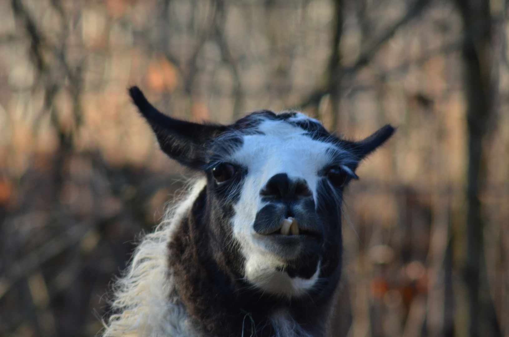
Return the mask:
<svg viewBox="0 0 509 337">
<path fill-rule="evenodd" d="M 0 336 L 94 336 L 191 172 L 126 89 L 390 141 L 346 193 L 330 336 L 509 336 L 504 0 L 1 0 Z"/>
</svg>

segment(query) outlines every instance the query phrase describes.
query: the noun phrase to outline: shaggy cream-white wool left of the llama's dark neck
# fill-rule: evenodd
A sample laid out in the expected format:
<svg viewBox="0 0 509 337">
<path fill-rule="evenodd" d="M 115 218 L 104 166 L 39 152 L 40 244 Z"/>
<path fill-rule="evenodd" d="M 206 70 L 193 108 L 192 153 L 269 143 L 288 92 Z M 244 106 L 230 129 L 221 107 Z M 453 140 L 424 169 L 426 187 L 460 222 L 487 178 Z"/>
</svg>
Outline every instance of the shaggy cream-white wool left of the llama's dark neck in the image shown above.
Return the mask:
<svg viewBox="0 0 509 337">
<path fill-rule="evenodd" d="M 132 261 L 115 285 L 112 311 L 103 337 L 199 335 L 184 308 L 178 303 L 168 275 L 168 241 L 182 216 L 206 184 L 196 181 L 187 197 L 169 208 L 153 233 L 146 235 L 134 251 Z"/>
</svg>

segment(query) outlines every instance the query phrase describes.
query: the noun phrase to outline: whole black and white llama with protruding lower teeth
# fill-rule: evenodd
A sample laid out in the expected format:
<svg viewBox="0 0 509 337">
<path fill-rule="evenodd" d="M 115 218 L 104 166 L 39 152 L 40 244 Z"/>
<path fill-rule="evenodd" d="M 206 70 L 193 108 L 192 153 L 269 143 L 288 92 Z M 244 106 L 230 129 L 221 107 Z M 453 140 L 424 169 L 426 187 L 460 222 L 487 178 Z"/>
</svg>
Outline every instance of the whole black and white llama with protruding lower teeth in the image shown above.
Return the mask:
<svg viewBox="0 0 509 337">
<path fill-rule="evenodd" d="M 140 242 L 103 336 L 323 336 L 341 274 L 343 189 L 394 128 L 351 142 L 268 110 L 197 124 L 129 93 L 161 150 L 202 178 Z"/>
</svg>

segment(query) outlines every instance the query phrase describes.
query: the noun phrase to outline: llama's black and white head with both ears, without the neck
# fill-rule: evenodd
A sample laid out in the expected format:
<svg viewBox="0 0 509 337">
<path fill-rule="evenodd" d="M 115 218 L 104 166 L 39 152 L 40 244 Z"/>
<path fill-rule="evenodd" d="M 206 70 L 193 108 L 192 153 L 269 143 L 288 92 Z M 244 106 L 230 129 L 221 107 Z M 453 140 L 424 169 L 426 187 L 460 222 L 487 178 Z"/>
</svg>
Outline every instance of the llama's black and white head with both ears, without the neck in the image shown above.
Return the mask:
<svg viewBox="0 0 509 337">
<path fill-rule="evenodd" d="M 207 177 L 207 250 L 223 271 L 283 297 L 320 292 L 340 275 L 343 189 L 361 159 L 394 132 L 337 138 L 301 113 L 252 113 L 228 126 L 169 118 L 136 87 L 130 95 L 171 158 Z"/>
</svg>

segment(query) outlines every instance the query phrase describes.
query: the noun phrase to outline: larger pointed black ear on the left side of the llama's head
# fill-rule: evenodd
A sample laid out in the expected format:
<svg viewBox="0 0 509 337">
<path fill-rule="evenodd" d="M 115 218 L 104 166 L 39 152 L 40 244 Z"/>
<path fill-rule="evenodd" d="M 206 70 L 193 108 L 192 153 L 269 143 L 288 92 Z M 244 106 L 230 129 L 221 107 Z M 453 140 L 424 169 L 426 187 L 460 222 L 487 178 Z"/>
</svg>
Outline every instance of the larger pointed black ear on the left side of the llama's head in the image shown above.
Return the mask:
<svg viewBox="0 0 509 337">
<path fill-rule="evenodd" d="M 222 125 L 204 125 L 173 119 L 161 114 L 138 87 L 129 89 L 134 104 L 154 130 L 161 150 L 192 168 L 205 166 L 205 145 L 227 130 Z"/>
</svg>

